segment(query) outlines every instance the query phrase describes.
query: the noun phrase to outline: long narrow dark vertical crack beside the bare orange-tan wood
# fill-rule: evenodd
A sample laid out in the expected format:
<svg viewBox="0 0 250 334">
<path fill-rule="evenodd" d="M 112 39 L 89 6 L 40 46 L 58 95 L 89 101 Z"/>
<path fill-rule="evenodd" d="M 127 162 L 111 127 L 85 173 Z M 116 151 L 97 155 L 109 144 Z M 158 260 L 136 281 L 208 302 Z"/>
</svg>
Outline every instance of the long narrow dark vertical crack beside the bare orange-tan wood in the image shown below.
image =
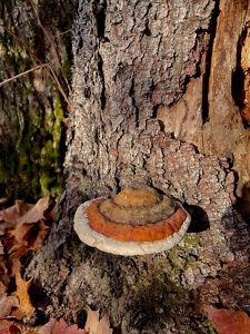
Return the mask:
<svg viewBox="0 0 250 334">
<path fill-rule="evenodd" d="M 210 21 L 210 40 L 208 45 L 208 51 L 206 56 L 206 69 L 203 76 L 203 87 L 202 87 L 202 122 L 206 124 L 209 120 L 209 79 L 211 73 L 211 60 L 212 60 L 212 51 L 213 51 L 213 42 L 217 33 L 217 21 L 220 14 L 220 1 L 216 1 L 214 9 L 212 12 L 211 21 Z"/>
</svg>

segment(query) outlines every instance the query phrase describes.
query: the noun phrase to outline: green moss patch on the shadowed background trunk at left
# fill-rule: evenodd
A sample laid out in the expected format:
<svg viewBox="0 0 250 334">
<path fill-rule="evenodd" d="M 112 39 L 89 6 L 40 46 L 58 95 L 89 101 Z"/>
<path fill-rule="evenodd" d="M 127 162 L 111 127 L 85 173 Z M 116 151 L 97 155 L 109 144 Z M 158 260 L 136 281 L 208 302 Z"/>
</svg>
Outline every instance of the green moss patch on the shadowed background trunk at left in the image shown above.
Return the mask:
<svg viewBox="0 0 250 334">
<path fill-rule="evenodd" d="M 0 185 L 7 188 L 8 183 L 14 184 L 14 197 L 36 199 L 62 191 L 63 110 L 58 95 L 54 100 L 54 110 L 48 109 L 46 117 L 38 109 L 27 115 L 17 147 L 10 149 L 12 154 L 1 153 Z"/>
</svg>

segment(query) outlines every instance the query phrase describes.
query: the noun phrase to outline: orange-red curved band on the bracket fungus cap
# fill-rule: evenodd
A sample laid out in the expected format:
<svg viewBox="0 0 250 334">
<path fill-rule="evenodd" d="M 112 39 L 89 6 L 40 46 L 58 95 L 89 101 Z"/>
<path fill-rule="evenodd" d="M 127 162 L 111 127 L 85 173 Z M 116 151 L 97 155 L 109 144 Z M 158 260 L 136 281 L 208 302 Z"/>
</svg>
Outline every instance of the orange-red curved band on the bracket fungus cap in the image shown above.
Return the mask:
<svg viewBox="0 0 250 334">
<path fill-rule="evenodd" d="M 187 214 L 181 208 L 178 208 L 172 216 L 154 224 L 131 226 L 129 224 L 113 223 L 100 213 L 99 206 L 101 202 L 101 199 L 93 200 L 87 208 L 89 225 L 97 233 L 122 242 L 154 242 L 164 239 L 177 233 L 187 218 Z"/>
</svg>

